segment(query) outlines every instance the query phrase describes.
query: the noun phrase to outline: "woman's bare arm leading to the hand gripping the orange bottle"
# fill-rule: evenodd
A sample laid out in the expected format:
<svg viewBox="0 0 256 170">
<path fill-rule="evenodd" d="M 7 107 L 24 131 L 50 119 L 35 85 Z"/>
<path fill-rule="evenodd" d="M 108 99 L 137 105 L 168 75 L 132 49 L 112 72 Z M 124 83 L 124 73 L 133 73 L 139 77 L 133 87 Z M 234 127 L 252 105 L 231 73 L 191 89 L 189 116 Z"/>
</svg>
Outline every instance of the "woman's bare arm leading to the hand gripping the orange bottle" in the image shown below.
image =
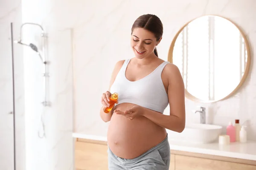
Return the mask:
<svg viewBox="0 0 256 170">
<path fill-rule="evenodd" d="M 111 75 L 111 79 L 110 79 L 110 84 L 109 84 L 109 88 L 108 88 L 108 92 L 110 91 L 110 88 L 111 86 L 113 85 L 113 82 L 115 81 L 116 79 L 116 75 L 118 74 L 118 72 L 120 71 L 120 69 L 122 68 L 122 65 L 124 64 L 125 60 L 121 60 L 119 62 L 116 63 L 114 69 L 113 69 L 113 72 L 112 72 L 112 75 Z M 110 92 L 109 92 L 110 93 Z M 109 97 L 109 96 L 108 96 Z M 113 114 L 113 110 L 114 108 L 109 112 L 109 113 L 105 113 L 103 110 L 105 109 L 106 107 L 103 105 L 101 108 L 100 108 L 100 117 L 101 119 L 104 121 L 104 122 L 109 122 L 111 120 L 111 117 L 112 117 L 112 114 Z"/>
</svg>

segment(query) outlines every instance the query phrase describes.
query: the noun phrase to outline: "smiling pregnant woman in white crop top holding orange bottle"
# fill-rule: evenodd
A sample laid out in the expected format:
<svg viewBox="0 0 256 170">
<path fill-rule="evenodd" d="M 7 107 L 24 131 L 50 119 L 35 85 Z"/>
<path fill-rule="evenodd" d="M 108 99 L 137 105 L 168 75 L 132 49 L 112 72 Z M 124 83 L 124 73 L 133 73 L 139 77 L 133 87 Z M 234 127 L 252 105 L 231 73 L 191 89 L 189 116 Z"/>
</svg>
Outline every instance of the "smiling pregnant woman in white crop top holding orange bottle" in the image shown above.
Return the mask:
<svg viewBox="0 0 256 170">
<path fill-rule="evenodd" d="M 108 127 L 109 170 L 169 170 L 166 128 L 185 127 L 185 90 L 177 66 L 158 58 L 163 24 L 152 14 L 137 18 L 131 28 L 135 57 L 116 63 L 110 86 L 101 98 L 100 116 Z M 110 113 L 113 93 L 119 99 Z M 163 114 L 169 105 L 170 114 Z"/>
</svg>

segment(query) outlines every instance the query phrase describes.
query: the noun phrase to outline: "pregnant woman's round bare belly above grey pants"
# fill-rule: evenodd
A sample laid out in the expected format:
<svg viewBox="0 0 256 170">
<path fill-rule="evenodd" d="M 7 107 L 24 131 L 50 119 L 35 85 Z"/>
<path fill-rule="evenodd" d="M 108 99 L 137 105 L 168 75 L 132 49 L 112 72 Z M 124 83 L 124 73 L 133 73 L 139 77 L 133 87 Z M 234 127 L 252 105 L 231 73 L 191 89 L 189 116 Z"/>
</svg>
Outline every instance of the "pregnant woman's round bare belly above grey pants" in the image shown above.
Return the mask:
<svg viewBox="0 0 256 170">
<path fill-rule="evenodd" d="M 132 106 L 134 104 L 122 103 L 115 109 L 125 111 Z M 116 156 L 133 159 L 162 142 L 166 135 L 165 128 L 144 116 L 129 120 L 113 113 L 108 127 L 108 146 Z"/>
</svg>

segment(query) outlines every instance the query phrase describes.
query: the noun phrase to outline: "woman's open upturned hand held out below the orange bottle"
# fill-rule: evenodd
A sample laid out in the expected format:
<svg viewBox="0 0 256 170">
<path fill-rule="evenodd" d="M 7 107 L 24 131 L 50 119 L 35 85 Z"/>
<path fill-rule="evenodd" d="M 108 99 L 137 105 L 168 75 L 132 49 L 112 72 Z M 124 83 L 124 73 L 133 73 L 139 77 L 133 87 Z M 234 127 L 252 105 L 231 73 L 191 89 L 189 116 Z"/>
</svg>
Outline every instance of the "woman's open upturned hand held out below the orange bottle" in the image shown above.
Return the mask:
<svg viewBox="0 0 256 170">
<path fill-rule="evenodd" d="M 132 120 L 137 116 L 143 115 L 143 108 L 139 105 L 135 105 L 126 111 L 114 110 L 114 113 L 120 114 L 120 115 L 125 116 L 128 119 Z"/>
</svg>

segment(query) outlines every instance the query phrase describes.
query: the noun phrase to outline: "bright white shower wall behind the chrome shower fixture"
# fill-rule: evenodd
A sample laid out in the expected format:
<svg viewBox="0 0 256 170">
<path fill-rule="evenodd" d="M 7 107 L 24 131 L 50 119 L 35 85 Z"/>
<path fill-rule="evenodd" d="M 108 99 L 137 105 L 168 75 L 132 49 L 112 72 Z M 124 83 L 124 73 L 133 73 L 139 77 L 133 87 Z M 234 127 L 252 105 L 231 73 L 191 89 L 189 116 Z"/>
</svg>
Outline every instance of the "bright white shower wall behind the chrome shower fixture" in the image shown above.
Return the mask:
<svg viewBox="0 0 256 170">
<path fill-rule="evenodd" d="M 44 107 L 42 64 L 30 48 L 23 48 L 26 111 L 26 170 L 73 169 L 73 18 L 64 1 L 22 0 L 22 23 L 40 24 L 46 32 L 44 47 L 49 71 Z M 70 1 L 71 3 L 71 1 Z M 23 39 L 38 46 L 43 38 L 38 26 L 26 25 Z"/>
</svg>

